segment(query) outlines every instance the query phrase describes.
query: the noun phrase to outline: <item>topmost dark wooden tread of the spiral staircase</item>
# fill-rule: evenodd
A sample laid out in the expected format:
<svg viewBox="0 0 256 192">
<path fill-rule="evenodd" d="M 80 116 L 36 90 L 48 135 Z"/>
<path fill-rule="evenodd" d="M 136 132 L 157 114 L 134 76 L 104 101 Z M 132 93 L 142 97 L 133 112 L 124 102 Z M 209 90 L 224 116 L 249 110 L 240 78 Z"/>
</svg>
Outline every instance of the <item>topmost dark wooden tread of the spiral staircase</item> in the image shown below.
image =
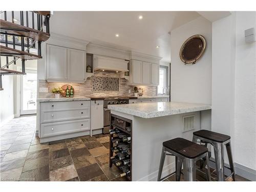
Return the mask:
<svg viewBox="0 0 256 192">
<path fill-rule="evenodd" d="M 43 31 L 38 31 L 36 29 L 32 29 L 26 26 L 22 26 L 19 24 L 14 24 L 12 22 L 8 22 L 7 20 L 0 19 L 0 29 L 1 32 L 7 32 L 10 35 L 20 35 L 29 38 L 33 38 L 38 41 L 46 41 L 50 38 L 50 33 L 46 33 Z"/>
</svg>

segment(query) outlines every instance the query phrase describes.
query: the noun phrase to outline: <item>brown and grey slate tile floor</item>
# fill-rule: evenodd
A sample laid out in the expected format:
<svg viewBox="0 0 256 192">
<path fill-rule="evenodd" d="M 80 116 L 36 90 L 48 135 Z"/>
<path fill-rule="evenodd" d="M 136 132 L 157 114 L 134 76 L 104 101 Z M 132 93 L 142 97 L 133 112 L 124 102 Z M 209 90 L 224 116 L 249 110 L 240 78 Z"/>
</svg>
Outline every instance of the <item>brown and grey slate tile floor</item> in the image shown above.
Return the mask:
<svg viewBox="0 0 256 192">
<path fill-rule="evenodd" d="M 14 118 L 0 127 L 1 181 L 126 181 L 115 166 L 109 168 L 108 135 L 40 144 L 35 127 L 36 116 Z M 204 177 L 197 174 L 197 179 Z"/>
</svg>

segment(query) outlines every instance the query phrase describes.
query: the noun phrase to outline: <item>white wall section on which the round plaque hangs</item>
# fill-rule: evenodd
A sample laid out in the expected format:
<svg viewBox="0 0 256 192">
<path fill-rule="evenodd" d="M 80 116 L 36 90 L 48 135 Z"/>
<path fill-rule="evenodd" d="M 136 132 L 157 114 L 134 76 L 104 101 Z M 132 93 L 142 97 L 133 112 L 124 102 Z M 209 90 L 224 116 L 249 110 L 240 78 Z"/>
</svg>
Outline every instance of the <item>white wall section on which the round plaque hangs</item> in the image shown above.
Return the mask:
<svg viewBox="0 0 256 192">
<path fill-rule="evenodd" d="M 195 65 L 184 65 L 179 56 L 183 42 L 192 35 L 206 39 L 204 55 Z M 172 101 L 211 104 L 211 23 L 198 17 L 170 32 Z"/>
</svg>

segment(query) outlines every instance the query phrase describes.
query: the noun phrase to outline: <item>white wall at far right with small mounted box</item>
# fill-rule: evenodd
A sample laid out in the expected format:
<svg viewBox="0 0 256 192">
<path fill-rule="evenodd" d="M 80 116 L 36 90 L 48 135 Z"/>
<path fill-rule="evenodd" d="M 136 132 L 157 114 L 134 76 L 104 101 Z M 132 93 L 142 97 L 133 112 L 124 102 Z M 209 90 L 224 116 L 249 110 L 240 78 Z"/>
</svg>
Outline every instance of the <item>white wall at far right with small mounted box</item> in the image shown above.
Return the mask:
<svg viewBox="0 0 256 192">
<path fill-rule="evenodd" d="M 233 12 L 212 23 L 211 120 L 212 131 L 231 136 L 237 173 L 255 180 L 256 45 L 244 39 L 251 27 L 256 12 Z"/>
</svg>

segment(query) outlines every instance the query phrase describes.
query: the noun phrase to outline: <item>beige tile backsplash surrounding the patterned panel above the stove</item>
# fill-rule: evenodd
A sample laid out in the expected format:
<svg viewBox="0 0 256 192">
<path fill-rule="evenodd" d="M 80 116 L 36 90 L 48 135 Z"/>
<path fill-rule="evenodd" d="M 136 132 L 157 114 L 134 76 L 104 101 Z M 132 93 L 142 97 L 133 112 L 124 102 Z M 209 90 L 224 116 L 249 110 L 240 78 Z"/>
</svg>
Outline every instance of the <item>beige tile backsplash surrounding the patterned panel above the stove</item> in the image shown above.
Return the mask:
<svg viewBox="0 0 256 192">
<path fill-rule="evenodd" d="M 115 77 L 119 78 L 120 75 L 115 72 L 103 72 L 103 71 L 95 71 L 94 76 L 101 76 L 101 77 Z M 86 82 L 84 83 L 72 83 L 72 82 L 47 82 L 45 80 L 39 80 L 39 87 L 48 87 L 48 93 L 38 93 L 38 98 L 45 98 L 45 97 L 54 97 L 54 94 L 51 93 L 53 88 L 58 88 L 63 86 L 64 84 L 70 84 L 74 87 L 75 90 L 75 97 L 101 97 L 101 96 L 133 96 L 134 95 L 134 87 L 129 86 L 127 84 L 127 80 L 124 78 L 120 78 L 119 81 L 119 91 L 116 92 L 93 92 L 92 89 L 92 77 L 87 78 Z M 156 95 L 156 87 L 155 86 L 137 86 L 138 88 L 142 88 L 144 94 L 148 96 Z M 131 90 L 131 93 L 129 93 Z"/>
</svg>

